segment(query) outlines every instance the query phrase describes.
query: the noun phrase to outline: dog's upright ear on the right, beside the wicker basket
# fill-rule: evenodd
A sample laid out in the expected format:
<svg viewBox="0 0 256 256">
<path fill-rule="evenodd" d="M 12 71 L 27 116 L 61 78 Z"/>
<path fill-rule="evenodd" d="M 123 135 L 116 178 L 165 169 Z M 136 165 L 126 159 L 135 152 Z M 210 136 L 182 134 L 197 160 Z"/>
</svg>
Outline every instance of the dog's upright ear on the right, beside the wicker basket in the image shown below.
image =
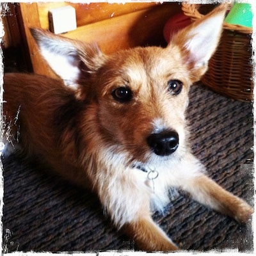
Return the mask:
<svg viewBox="0 0 256 256">
<path fill-rule="evenodd" d="M 227 4 L 220 4 L 211 13 L 175 34 L 169 47 L 177 45 L 184 64 L 191 71 L 193 82 L 206 72 L 208 62 L 216 51 L 222 32 Z"/>
</svg>

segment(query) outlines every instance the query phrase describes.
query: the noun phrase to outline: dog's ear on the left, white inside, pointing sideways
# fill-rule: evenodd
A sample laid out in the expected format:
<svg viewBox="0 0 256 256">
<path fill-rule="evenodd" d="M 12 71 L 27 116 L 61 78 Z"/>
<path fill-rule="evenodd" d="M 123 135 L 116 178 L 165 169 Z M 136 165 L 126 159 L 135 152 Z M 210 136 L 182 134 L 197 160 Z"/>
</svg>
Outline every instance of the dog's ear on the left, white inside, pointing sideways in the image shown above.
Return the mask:
<svg viewBox="0 0 256 256">
<path fill-rule="evenodd" d="M 44 59 L 67 85 L 90 76 L 102 65 L 104 56 L 97 44 L 84 44 L 43 29 L 30 31 Z"/>
</svg>

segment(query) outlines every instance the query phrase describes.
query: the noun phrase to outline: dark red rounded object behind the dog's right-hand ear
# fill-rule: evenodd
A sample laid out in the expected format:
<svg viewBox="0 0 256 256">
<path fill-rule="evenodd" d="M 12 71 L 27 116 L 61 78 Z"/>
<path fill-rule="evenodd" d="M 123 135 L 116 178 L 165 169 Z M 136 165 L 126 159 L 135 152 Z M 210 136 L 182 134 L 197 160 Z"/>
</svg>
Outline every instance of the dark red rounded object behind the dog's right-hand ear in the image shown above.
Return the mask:
<svg viewBox="0 0 256 256">
<path fill-rule="evenodd" d="M 172 36 L 182 28 L 191 24 L 191 19 L 184 13 L 179 13 L 171 17 L 164 25 L 164 39 L 170 42 Z"/>
</svg>

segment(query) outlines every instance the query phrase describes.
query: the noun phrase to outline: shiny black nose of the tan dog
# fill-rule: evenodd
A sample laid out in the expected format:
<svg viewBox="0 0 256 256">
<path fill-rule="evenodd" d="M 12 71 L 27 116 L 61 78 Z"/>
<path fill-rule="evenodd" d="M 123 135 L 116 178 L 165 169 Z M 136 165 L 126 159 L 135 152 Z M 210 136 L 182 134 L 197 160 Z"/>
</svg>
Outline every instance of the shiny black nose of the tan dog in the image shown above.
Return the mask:
<svg viewBox="0 0 256 256">
<path fill-rule="evenodd" d="M 158 156 L 169 156 L 179 146 L 179 134 L 174 131 L 154 133 L 148 136 L 147 143 Z"/>
</svg>

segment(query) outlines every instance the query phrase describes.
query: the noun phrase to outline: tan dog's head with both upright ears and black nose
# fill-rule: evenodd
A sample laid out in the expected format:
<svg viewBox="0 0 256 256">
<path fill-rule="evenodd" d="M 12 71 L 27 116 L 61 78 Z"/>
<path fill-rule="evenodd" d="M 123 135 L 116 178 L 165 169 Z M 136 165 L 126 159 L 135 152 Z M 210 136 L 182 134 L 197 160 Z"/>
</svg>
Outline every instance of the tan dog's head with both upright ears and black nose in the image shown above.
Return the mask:
<svg viewBox="0 0 256 256">
<path fill-rule="evenodd" d="M 221 35 L 219 6 L 173 36 L 166 48 L 137 47 L 107 56 L 97 45 L 49 32 L 32 34 L 51 68 L 91 102 L 100 131 L 132 161 L 179 159 L 188 150 L 189 86 L 207 70 Z M 153 160 L 154 159 L 154 160 Z"/>
</svg>

